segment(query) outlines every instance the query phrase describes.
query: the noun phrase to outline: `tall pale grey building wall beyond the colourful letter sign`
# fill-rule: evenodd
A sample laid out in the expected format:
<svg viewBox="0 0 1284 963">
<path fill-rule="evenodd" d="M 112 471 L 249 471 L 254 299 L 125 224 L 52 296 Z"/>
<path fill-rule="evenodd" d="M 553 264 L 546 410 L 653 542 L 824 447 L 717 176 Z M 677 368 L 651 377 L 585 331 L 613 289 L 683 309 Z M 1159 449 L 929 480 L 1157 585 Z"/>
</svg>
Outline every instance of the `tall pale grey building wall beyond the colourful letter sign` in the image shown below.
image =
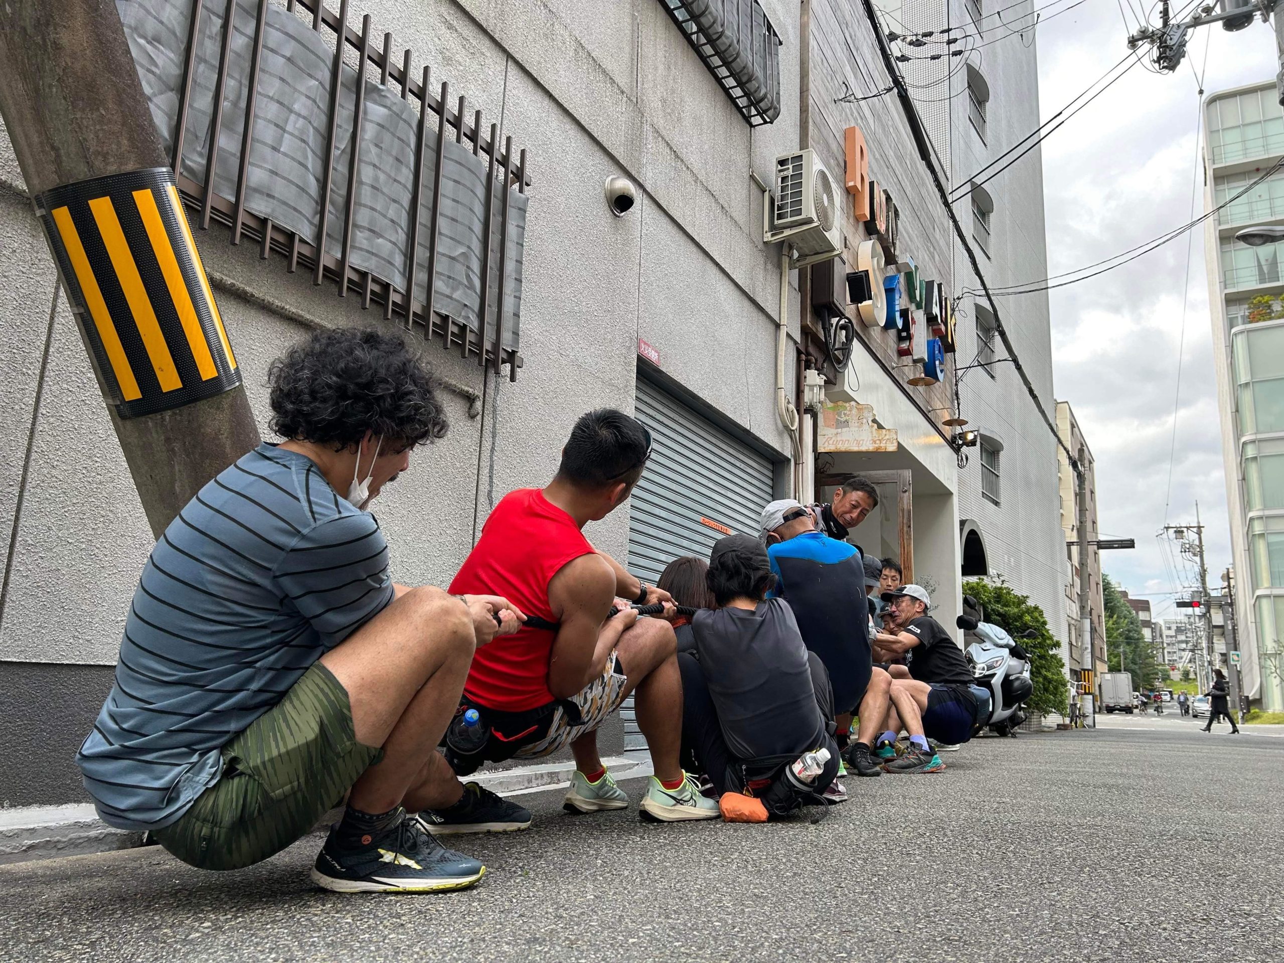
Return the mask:
<svg viewBox="0 0 1284 963">
<path fill-rule="evenodd" d="M 986 5 L 982 4 L 982 12 Z M 1031 23 L 1036 6 L 1026 0 L 1004 8 L 1004 18 Z M 976 35 L 977 26 L 962 3 L 950 4 L 950 22 Z M 993 13 L 993 10 L 990 10 Z M 968 119 L 967 71 L 951 78 L 950 173 L 954 209 L 969 238 L 972 208 L 968 187 L 984 181 L 1012 158 L 976 177 L 991 160 L 1004 154 L 1039 126 L 1039 64 L 1036 45 L 1012 36 L 996 18 L 984 19 L 977 42 L 986 46 L 968 59 L 989 87 L 985 136 Z M 1030 32 L 1027 31 L 1027 39 Z M 994 42 L 991 42 L 994 41 Z M 963 59 L 963 58 L 960 58 Z M 1036 146 L 1002 173 L 984 184 L 994 202 L 989 256 L 977 250 L 981 270 L 994 288 L 1039 281 L 1048 276 L 1044 231 L 1043 155 Z M 973 241 L 973 248 L 976 243 Z M 978 290 L 980 285 L 959 245 L 954 252 L 955 294 Z M 1035 385 L 1039 399 L 1054 417 L 1052 333 L 1045 291 L 996 299 L 1000 318 Z M 984 298 L 964 295 L 959 302 L 959 366 L 978 354 L 977 304 Z M 995 342 L 996 358 L 1005 357 Z M 989 374 L 987 374 L 989 371 Z M 993 376 L 991 376 L 993 375 Z M 981 466 L 976 448 L 968 449 L 968 465 L 959 471 L 959 516 L 981 529 L 989 555 L 990 574 L 1030 596 L 1044 610 L 1053 634 L 1067 639 L 1066 548 L 1058 512 L 1057 442 L 1026 394 L 1009 363 L 973 369 L 962 375 L 960 411 L 968 429 L 1002 443 L 1002 499 L 987 501 L 981 493 Z"/>
</svg>

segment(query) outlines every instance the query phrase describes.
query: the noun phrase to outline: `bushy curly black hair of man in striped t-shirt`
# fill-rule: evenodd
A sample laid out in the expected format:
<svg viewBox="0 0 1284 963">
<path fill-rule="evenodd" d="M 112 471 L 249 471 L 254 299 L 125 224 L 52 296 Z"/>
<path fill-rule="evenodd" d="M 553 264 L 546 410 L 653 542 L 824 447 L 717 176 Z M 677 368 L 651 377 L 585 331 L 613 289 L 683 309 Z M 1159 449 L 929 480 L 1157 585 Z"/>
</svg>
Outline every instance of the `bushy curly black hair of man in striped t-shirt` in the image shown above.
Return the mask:
<svg viewBox="0 0 1284 963">
<path fill-rule="evenodd" d="M 293 442 L 343 451 L 372 431 L 413 447 L 449 428 L 424 363 L 375 329 L 317 331 L 272 362 L 267 383 L 268 426 Z"/>
</svg>

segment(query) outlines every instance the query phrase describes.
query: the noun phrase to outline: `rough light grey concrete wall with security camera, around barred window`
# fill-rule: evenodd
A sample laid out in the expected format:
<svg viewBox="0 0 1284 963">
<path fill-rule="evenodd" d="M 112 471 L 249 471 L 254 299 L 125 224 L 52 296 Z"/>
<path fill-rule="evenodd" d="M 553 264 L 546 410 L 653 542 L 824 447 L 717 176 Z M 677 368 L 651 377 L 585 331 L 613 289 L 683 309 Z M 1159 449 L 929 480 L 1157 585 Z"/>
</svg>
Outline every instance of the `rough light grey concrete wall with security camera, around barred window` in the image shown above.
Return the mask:
<svg viewBox="0 0 1284 963">
<path fill-rule="evenodd" d="M 475 361 L 439 342 L 424 345 L 457 388 L 443 389 L 447 438 L 417 451 L 374 505 L 397 580 L 448 582 L 494 501 L 550 478 L 575 417 L 606 404 L 632 411 L 638 336 L 660 351 L 668 375 L 787 457 L 774 413 L 779 272 L 776 250 L 761 243 L 763 202 L 750 171 L 769 180 L 774 157 L 799 141 L 799 15 L 785 0 L 763 0 L 763 8 L 783 41 L 785 109 L 756 130 L 655 0 L 619 0 L 592 15 L 569 0 L 367 0 L 354 8 L 372 15 L 376 36 L 392 31 L 417 63 L 430 63 L 470 109 L 502 122 L 528 149 L 534 185 L 516 383 L 507 372 L 484 377 Z M 609 175 L 638 185 L 639 203 L 627 217 L 606 207 Z M 8 137 L 0 137 L 0 181 L 8 185 L 0 190 L 0 402 L 9 415 L 0 443 L 26 456 L 0 467 L 0 525 L 12 532 L 0 687 L 60 693 L 48 718 L 22 728 L 26 742 L 9 746 L 0 801 L 64 802 L 74 801 L 68 792 L 83 799 L 71 756 L 110 684 L 152 538 L 65 300 L 50 325 L 55 275 Z M 336 298 L 334 285 L 313 288 L 302 272 L 286 273 L 279 257 L 259 261 L 257 245 L 231 247 L 222 229 L 198 231 L 196 243 L 271 438 L 271 360 L 315 326 L 384 322 L 356 299 Z M 788 300 L 796 331 L 796 289 Z M 792 365 L 787 371 L 792 392 Z M 484 413 L 470 395 L 485 397 Z M 625 507 L 587 534 L 623 559 L 628 521 Z"/>
</svg>

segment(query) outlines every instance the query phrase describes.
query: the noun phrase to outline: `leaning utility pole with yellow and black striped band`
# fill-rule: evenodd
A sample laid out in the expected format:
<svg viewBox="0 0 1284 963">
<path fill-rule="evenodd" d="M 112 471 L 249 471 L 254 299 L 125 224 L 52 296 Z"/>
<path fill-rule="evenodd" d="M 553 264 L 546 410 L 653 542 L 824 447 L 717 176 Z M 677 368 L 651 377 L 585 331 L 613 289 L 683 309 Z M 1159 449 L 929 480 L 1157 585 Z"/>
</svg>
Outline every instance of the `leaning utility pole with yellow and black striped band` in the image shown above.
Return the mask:
<svg viewBox="0 0 1284 963">
<path fill-rule="evenodd" d="M 0 114 L 159 537 L 259 437 L 116 4 L 0 4 Z"/>
</svg>

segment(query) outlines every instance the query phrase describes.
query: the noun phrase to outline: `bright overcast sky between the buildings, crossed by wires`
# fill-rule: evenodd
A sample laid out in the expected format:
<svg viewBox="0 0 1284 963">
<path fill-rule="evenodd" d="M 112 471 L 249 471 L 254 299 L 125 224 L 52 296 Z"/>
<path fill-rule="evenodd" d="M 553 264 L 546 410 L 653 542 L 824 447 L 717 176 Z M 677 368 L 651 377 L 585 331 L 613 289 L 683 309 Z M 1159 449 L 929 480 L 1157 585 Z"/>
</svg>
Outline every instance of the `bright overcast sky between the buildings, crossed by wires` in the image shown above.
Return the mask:
<svg viewBox="0 0 1284 963">
<path fill-rule="evenodd" d="M 1127 53 L 1131 28 L 1135 23 L 1125 28 L 1115 0 L 1085 0 L 1037 30 L 1045 119 Z M 1176 73 L 1132 68 L 1044 141 L 1049 273 L 1094 263 L 1189 220 L 1199 105 L 1195 71 L 1203 67 L 1206 45 L 1206 94 L 1274 78 L 1278 69 L 1269 26 L 1258 22 L 1236 33 L 1201 27 Z M 1202 176 L 1198 190 L 1202 213 Z M 1103 553 L 1103 566 L 1134 594 L 1149 594 L 1161 618 L 1174 611 L 1172 596 L 1159 593 L 1179 588 L 1156 539 L 1166 515 L 1168 523 L 1190 521 L 1199 501 L 1213 591 L 1231 561 L 1202 229 L 1190 248 L 1176 455 L 1167 493 L 1186 236 L 1050 291 L 1057 397 L 1075 408 L 1097 460 L 1100 529 L 1135 538 L 1138 546 Z"/>
</svg>

